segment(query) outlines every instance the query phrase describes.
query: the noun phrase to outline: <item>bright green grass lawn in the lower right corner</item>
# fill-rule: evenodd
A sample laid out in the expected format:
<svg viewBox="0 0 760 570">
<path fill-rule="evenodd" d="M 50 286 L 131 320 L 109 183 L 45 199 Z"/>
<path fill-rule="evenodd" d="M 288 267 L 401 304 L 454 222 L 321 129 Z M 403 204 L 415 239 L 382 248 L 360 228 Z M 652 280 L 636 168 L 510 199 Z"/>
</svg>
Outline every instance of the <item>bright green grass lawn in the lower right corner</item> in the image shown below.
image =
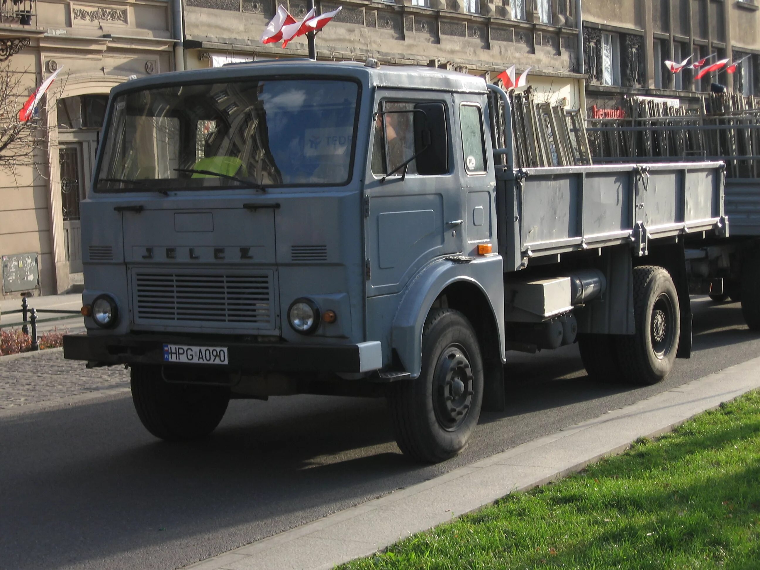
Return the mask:
<svg viewBox="0 0 760 570">
<path fill-rule="evenodd" d="M 340 568 L 760 568 L 760 394 Z"/>
</svg>

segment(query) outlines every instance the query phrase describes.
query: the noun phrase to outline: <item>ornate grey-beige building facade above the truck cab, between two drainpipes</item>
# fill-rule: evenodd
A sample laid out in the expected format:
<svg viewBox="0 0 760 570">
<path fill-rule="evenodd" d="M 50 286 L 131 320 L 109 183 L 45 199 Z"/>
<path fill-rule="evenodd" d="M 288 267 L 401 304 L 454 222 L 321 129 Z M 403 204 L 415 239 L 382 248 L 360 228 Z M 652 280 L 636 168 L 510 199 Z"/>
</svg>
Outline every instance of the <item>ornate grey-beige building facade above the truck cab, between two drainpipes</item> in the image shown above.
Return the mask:
<svg viewBox="0 0 760 570">
<path fill-rule="evenodd" d="M 306 0 L 283 0 L 294 17 Z M 494 81 L 509 65 L 533 66 L 537 93 L 581 104 L 576 0 L 330 0 L 321 12 L 342 6 L 316 36 L 317 59 L 397 65 L 434 65 Z M 229 61 L 305 57 L 306 38 L 260 43 L 277 0 L 185 0 L 185 65 L 204 68 Z"/>
</svg>

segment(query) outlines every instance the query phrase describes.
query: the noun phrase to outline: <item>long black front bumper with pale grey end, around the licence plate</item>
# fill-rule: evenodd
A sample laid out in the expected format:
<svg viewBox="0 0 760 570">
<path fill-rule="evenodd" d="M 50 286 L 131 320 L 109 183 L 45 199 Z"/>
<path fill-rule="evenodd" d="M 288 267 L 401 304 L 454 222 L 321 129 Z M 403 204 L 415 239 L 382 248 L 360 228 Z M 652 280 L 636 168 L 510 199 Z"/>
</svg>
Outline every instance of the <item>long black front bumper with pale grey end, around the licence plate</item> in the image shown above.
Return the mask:
<svg viewBox="0 0 760 570">
<path fill-rule="evenodd" d="M 371 372 L 382 368 L 382 345 L 378 340 L 359 344 L 304 345 L 228 340 L 210 342 L 207 339 L 176 334 L 66 334 L 63 337 L 63 356 L 69 360 L 87 360 L 100 365 L 204 366 L 164 362 L 164 344 L 227 347 L 228 364 L 213 366 L 215 369 L 246 372 Z"/>
</svg>

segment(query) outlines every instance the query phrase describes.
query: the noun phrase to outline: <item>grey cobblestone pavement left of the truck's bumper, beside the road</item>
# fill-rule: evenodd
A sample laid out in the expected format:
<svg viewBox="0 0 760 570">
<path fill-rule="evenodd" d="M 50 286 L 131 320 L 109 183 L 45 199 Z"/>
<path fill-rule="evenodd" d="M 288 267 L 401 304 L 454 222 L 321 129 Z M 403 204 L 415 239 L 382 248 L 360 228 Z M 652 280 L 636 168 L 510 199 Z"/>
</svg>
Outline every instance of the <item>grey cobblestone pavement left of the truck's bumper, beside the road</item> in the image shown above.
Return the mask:
<svg viewBox="0 0 760 570">
<path fill-rule="evenodd" d="M 128 386 L 123 366 L 86 369 L 61 350 L 0 362 L 0 410 Z"/>
</svg>

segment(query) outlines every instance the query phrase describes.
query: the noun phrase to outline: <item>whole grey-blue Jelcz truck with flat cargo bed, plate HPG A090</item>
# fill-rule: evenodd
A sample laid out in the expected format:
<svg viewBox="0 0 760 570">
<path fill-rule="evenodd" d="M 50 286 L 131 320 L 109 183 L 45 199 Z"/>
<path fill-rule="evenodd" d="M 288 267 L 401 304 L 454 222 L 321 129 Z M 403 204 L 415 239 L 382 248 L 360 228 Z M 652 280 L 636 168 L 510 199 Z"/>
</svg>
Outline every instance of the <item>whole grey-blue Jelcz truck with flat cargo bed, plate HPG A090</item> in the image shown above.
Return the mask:
<svg viewBox="0 0 760 570">
<path fill-rule="evenodd" d="M 423 461 L 502 409 L 508 350 L 660 381 L 691 350 L 685 240 L 727 233 L 721 163 L 514 169 L 510 117 L 482 78 L 372 60 L 116 87 L 65 357 L 128 365 L 161 439 L 231 397 L 385 396 Z"/>
</svg>

